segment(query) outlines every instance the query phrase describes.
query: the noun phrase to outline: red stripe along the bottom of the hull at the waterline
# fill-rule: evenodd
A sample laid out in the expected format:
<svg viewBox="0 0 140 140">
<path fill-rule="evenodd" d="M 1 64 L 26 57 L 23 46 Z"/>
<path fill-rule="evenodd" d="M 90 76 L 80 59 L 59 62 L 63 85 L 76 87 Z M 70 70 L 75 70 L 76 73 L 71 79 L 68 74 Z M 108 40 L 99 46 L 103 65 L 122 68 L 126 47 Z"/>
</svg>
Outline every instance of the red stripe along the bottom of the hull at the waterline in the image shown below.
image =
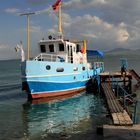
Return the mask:
<svg viewBox="0 0 140 140">
<path fill-rule="evenodd" d="M 33 99 L 42 98 L 42 97 L 55 97 L 55 96 L 61 96 L 61 95 L 81 92 L 81 91 L 84 91 L 85 89 L 86 89 L 85 87 L 82 87 L 82 88 L 78 88 L 78 89 L 58 91 L 58 92 L 40 92 L 40 93 L 31 94 L 31 97 Z"/>
</svg>

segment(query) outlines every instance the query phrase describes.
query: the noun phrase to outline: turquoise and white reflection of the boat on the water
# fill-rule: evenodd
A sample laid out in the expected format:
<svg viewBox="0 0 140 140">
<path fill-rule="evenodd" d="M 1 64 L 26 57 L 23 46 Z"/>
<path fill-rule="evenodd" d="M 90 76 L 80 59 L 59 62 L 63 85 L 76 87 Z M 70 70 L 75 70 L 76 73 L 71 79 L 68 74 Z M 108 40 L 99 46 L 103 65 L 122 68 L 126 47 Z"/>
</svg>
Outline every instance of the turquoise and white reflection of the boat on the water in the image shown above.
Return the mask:
<svg viewBox="0 0 140 140">
<path fill-rule="evenodd" d="M 41 99 L 23 105 L 23 120 L 28 136 L 79 133 L 93 129 L 106 114 L 101 99 L 80 93 L 72 97 Z M 99 117 L 100 116 L 100 117 Z"/>
</svg>

